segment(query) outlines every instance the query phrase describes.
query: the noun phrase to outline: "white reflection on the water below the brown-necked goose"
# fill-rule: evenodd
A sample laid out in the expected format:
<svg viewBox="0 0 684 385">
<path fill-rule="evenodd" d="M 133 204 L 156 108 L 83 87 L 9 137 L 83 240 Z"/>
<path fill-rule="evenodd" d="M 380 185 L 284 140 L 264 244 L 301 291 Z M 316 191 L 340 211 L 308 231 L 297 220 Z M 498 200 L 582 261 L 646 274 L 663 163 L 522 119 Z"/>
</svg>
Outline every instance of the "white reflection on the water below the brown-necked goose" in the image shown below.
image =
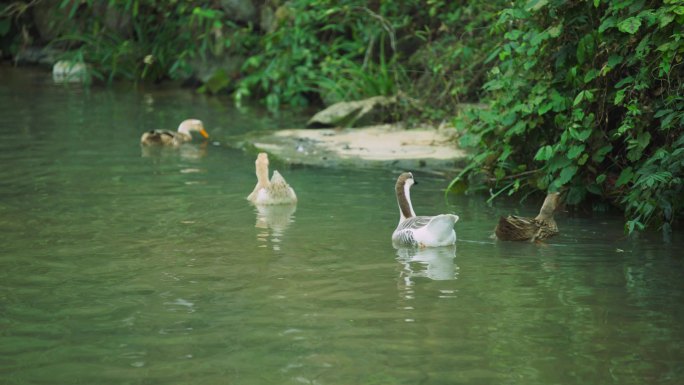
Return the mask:
<svg viewBox="0 0 684 385">
<path fill-rule="evenodd" d="M 411 279 L 416 277 L 438 281 L 458 278 L 455 258 L 456 245 L 397 250 L 397 261 L 404 265 L 401 276 L 406 286 L 410 286 Z"/>
</svg>

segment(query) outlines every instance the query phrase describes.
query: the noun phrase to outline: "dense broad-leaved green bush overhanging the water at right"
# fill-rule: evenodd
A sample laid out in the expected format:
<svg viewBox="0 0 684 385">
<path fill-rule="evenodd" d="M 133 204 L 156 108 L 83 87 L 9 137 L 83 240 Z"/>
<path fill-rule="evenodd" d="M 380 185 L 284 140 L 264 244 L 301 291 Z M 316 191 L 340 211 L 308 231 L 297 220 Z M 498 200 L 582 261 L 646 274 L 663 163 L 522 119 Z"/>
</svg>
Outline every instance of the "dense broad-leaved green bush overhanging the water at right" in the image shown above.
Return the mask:
<svg viewBox="0 0 684 385">
<path fill-rule="evenodd" d="M 503 9 L 484 85 L 460 114 L 475 148 L 460 178 L 567 190 L 626 209 L 627 230 L 684 205 L 682 1 L 522 1 Z M 516 183 L 511 183 L 516 181 Z"/>
</svg>

